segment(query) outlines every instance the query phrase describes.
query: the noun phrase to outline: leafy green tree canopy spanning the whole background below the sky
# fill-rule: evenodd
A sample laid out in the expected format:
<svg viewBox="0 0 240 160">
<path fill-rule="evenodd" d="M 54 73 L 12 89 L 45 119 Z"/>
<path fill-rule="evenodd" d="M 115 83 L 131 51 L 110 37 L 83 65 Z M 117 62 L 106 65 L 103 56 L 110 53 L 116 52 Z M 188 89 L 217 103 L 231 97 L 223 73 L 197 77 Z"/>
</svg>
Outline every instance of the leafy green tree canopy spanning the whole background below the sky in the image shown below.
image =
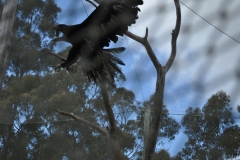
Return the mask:
<svg viewBox="0 0 240 160">
<path fill-rule="evenodd" d="M 59 12 L 54 0 L 19 1 L 0 96 L 0 159 L 113 159 L 106 136 L 54 112 L 72 112 L 109 128 L 99 87 L 89 83 L 81 71 L 55 73 L 49 67 L 58 63 L 47 51 L 54 49 L 50 40 Z M 67 47 L 58 54 L 67 55 L 69 50 Z M 117 78 L 126 80 L 123 75 Z M 142 159 L 144 109 L 150 106 L 153 111 L 154 96 L 139 102 L 124 87 L 107 85 L 107 90 L 124 159 Z M 219 91 L 203 107 L 189 107 L 181 126 L 163 105 L 153 159 L 239 156 L 240 128 L 234 125 L 231 108 L 230 96 Z M 164 145 L 175 139 L 181 127 L 188 141 L 173 157 Z"/>
</svg>

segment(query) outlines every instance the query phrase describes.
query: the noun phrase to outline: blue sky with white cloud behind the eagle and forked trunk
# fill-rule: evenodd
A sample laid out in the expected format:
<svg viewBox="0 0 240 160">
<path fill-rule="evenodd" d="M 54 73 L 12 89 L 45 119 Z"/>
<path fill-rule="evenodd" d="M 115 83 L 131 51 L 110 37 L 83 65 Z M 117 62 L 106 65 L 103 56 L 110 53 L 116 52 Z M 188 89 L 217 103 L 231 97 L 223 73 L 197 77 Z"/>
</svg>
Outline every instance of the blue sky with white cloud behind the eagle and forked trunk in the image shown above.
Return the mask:
<svg viewBox="0 0 240 160">
<path fill-rule="evenodd" d="M 197 14 L 220 28 L 223 32 L 240 41 L 239 0 L 182 0 L 184 4 Z M 58 15 L 58 23 L 76 24 L 85 19 L 94 7 L 88 2 L 75 0 L 56 0 L 62 8 Z M 209 7 L 211 9 L 209 9 Z M 69 10 L 71 8 L 71 10 Z M 143 36 L 145 28 L 149 28 L 149 42 L 164 65 L 171 52 L 171 31 L 175 25 L 175 6 L 173 0 L 144 0 L 137 23 L 129 30 Z M 239 68 L 240 45 L 211 26 L 201 17 L 184 5 L 182 9 L 182 26 L 177 44 L 177 56 L 166 77 L 164 103 L 178 122 L 189 107 L 202 107 L 212 94 L 223 90 L 232 98 L 233 113 L 239 116 L 236 107 L 240 104 L 239 82 L 236 73 Z M 220 17 L 226 13 L 226 17 Z M 137 100 L 147 100 L 155 91 L 156 71 L 142 45 L 124 36 L 113 46 L 124 46 L 126 51 L 119 57 L 125 62 L 122 67 L 127 81 L 123 84 L 132 90 Z M 58 43 L 56 49 L 61 50 L 66 43 Z M 138 75 L 138 78 L 136 76 Z M 139 83 L 138 83 L 139 81 Z M 140 88 L 141 87 L 141 88 Z M 141 92 L 142 91 L 142 92 Z M 167 146 L 171 155 L 180 151 L 186 141 L 183 129 Z"/>
</svg>

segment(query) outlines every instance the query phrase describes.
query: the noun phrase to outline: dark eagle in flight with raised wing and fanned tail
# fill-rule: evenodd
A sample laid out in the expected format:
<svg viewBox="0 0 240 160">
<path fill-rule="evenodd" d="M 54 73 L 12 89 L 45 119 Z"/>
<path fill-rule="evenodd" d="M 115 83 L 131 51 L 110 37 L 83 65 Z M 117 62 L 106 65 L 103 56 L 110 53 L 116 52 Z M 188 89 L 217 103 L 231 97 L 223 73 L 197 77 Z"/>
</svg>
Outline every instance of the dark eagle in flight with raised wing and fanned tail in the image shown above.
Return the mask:
<svg viewBox="0 0 240 160">
<path fill-rule="evenodd" d="M 56 38 L 52 41 L 65 41 L 72 45 L 67 58 L 60 58 L 63 63 L 56 65 L 55 69 L 75 71 L 79 61 L 83 73 L 95 83 L 103 78 L 102 75 L 110 75 L 114 79 L 116 72 L 122 74 L 117 65 L 125 64 L 113 54 L 121 53 L 125 48 L 104 47 L 109 47 L 111 41 L 116 43 L 118 36 L 123 36 L 128 26 L 136 23 L 140 11 L 138 5 L 142 4 L 142 0 L 102 0 L 82 23 L 54 26 Z M 59 32 L 62 37 L 59 37 Z"/>
</svg>

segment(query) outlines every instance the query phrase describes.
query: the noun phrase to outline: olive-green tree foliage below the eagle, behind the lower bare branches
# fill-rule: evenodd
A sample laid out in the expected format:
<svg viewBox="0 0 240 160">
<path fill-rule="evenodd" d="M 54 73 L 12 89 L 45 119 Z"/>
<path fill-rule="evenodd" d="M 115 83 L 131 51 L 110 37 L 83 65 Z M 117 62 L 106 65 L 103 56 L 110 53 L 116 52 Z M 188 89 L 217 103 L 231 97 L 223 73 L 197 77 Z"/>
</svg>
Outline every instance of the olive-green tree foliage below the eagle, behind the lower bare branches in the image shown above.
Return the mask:
<svg viewBox="0 0 240 160">
<path fill-rule="evenodd" d="M 131 119 L 140 103 L 131 91 L 108 87 L 117 120 L 117 136 L 127 159 L 127 155 L 136 149 L 141 150 L 141 122 Z M 8 147 L 8 159 L 61 159 L 63 156 L 69 159 L 112 159 L 105 136 L 53 111 L 73 112 L 90 122 L 108 126 L 99 88 L 89 84 L 81 72 L 74 75 L 61 71 L 44 76 L 11 76 L 2 95 L 1 109 L 4 109 L 4 114 L 13 115 L 12 119 L 4 119 L 3 122 L 14 123 L 17 127 L 5 125 L 0 130 L 3 137 L 7 137 L 8 128 L 12 134 L 9 146 L 2 141 L 1 156 L 4 148 Z"/>
</svg>

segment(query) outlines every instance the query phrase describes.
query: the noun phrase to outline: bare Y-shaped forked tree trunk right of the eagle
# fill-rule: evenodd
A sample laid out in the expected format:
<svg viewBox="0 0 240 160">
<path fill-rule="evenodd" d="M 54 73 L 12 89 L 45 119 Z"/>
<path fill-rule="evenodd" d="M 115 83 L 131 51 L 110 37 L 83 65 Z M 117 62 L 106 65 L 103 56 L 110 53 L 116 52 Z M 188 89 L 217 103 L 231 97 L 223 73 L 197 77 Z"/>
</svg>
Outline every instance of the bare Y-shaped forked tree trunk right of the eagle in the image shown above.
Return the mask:
<svg viewBox="0 0 240 160">
<path fill-rule="evenodd" d="M 156 55 L 154 54 L 151 45 L 149 44 L 147 37 L 148 37 L 148 29 L 146 29 L 145 36 L 139 37 L 133 33 L 127 32 L 126 35 L 133 40 L 141 43 L 147 50 L 147 53 L 157 71 L 157 82 L 156 82 L 156 91 L 154 95 L 154 104 L 152 109 L 152 120 L 150 124 L 150 131 L 147 137 L 147 142 L 144 144 L 144 151 L 143 155 L 145 155 L 145 160 L 151 160 L 153 158 L 153 154 L 155 152 L 156 148 L 156 141 L 159 133 L 160 128 L 160 120 L 161 120 L 161 113 L 163 108 L 163 95 L 164 95 L 164 85 L 165 85 L 165 76 L 170 67 L 173 64 L 173 61 L 176 56 L 177 47 L 177 37 L 180 31 L 180 25 L 181 25 L 181 9 L 179 0 L 174 0 L 175 7 L 176 7 L 176 14 L 177 14 L 177 20 L 176 20 L 176 26 L 174 30 L 172 31 L 172 52 L 171 56 L 169 57 L 167 63 L 165 66 L 162 66 Z"/>
</svg>

